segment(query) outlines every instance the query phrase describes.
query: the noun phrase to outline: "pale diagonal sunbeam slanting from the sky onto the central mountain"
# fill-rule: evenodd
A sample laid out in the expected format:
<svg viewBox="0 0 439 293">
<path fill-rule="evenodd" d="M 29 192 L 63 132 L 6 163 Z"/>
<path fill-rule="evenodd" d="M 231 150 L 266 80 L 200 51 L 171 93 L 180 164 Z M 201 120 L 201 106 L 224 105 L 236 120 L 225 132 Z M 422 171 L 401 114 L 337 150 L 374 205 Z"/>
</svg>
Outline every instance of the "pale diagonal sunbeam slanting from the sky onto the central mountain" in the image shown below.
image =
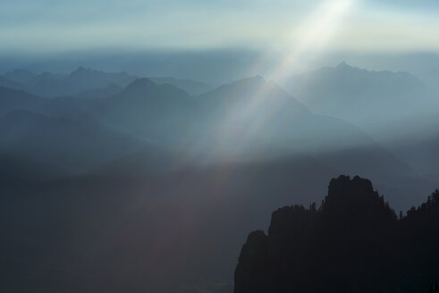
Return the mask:
<svg viewBox="0 0 439 293">
<path fill-rule="evenodd" d="M 343 16 L 350 12 L 354 1 L 328 0 L 321 4 L 317 11 L 303 22 L 300 29 L 295 30 L 291 39 L 296 41 L 289 41 L 293 43 L 289 54 L 268 76 L 269 80 L 280 80 L 291 71 L 295 63 L 302 62 L 310 54 L 316 56 L 322 52 L 342 23 Z M 243 152 L 249 151 L 249 147 L 254 147 L 251 146 L 252 139 L 263 136 L 261 130 L 281 113 L 283 107 L 288 106 L 288 99 L 266 100 L 275 88 L 273 82 L 264 81 L 257 84 L 257 90 L 247 94 L 245 103 L 232 101 L 232 106 L 224 114 L 224 120 L 216 133 L 217 147 L 209 153 L 218 155 L 224 154 L 225 151 L 225 154 L 231 155 L 229 151 L 232 151 L 232 157 L 239 158 Z"/>
</svg>

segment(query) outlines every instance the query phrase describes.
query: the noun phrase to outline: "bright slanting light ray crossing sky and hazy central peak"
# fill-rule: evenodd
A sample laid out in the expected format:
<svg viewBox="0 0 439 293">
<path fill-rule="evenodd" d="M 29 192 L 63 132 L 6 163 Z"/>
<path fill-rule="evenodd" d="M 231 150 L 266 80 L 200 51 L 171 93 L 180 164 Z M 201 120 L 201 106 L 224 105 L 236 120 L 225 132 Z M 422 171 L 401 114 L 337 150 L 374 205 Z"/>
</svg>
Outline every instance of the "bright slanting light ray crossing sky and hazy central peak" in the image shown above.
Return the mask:
<svg viewBox="0 0 439 293">
<path fill-rule="evenodd" d="M 269 77 L 270 80 L 279 80 L 290 71 L 294 63 L 304 59 L 309 52 L 317 54 L 323 50 L 337 26 L 340 25 L 342 16 L 348 13 L 353 1 L 355 0 L 327 0 L 321 4 L 317 12 L 311 14 L 300 26 L 300 38 L 291 36 L 299 41 L 293 44 L 290 54 L 274 70 Z M 246 100 L 245 105 L 232 109 L 231 113 L 224 117 L 224 125 L 220 127 L 221 131 L 218 133 L 218 151 L 221 146 L 224 146 L 224 143 L 230 144 L 233 141 L 240 141 L 245 144 L 245 142 L 249 142 L 253 136 L 258 135 L 257 130 L 263 128 L 265 123 L 273 119 L 276 113 L 281 110 L 270 108 L 269 112 L 266 112 L 265 109 L 261 109 L 265 100 L 270 98 L 271 86 L 257 88 L 254 95 Z"/>
</svg>

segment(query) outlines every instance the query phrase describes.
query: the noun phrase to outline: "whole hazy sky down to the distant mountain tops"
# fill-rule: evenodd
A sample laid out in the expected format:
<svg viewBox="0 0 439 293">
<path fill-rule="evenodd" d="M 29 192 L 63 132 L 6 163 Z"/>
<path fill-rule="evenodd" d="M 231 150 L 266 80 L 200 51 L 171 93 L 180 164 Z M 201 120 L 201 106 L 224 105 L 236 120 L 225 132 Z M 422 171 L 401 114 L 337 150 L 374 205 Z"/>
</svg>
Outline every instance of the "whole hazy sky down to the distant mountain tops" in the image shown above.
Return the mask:
<svg viewBox="0 0 439 293">
<path fill-rule="evenodd" d="M 191 79 L 221 84 L 230 81 L 219 78 L 229 74 L 216 64 L 221 60 L 241 63 L 227 69 L 234 79 L 269 80 L 345 60 L 419 75 L 425 56 L 439 60 L 438 12 L 434 0 L 8 0 L 0 4 L 0 71 L 67 72 L 83 65 L 182 78 L 179 67 L 196 62 L 218 73 L 202 80 L 195 72 Z"/>
</svg>

